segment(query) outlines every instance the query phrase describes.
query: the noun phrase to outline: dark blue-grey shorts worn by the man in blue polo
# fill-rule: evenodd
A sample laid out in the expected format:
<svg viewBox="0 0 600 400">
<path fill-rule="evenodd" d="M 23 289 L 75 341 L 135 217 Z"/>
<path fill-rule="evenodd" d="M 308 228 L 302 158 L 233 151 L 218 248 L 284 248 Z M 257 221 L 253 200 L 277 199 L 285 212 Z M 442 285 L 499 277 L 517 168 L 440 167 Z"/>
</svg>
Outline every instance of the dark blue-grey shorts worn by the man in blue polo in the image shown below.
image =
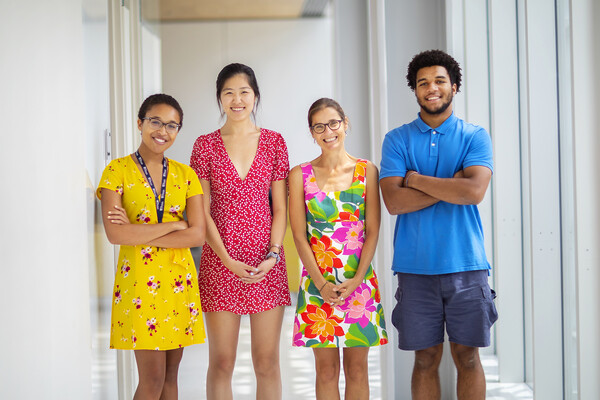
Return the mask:
<svg viewBox="0 0 600 400">
<path fill-rule="evenodd" d="M 490 345 L 490 328 L 498 312 L 487 270 L 397 275 L 392 323 L 398 330 L 400 349 L 422 350 L 443 343 L 444 327 L 453 343 Z"/>
</svg>

